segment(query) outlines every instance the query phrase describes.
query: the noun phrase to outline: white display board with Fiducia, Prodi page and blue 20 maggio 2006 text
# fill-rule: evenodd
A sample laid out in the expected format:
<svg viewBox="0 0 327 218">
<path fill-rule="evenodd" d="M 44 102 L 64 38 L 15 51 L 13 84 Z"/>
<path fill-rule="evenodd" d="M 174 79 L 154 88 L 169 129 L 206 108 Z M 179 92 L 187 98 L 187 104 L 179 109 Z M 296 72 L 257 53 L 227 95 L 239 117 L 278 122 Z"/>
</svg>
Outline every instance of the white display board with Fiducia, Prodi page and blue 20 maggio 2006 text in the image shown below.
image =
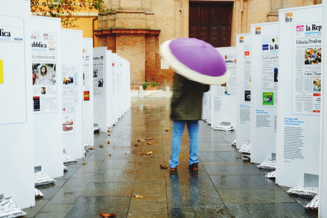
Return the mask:
<svg viewBox="0 0 327 218">
<path fill-rule="evenodd" d="M 287 187 L 318 186 L 322 18 L 303 16 L 313 13 L 321 5 L 279 11 L 277 177 Z"/>
</svg>

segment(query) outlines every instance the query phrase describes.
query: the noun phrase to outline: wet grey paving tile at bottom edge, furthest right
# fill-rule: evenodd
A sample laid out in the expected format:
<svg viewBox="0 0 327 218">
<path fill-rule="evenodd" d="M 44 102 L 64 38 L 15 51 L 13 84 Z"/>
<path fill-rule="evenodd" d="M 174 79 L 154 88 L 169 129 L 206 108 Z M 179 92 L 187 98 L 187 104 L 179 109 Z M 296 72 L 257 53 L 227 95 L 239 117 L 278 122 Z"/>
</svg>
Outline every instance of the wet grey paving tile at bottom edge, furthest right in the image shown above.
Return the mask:
<svg viewBox="0 0 327 218">
<path fill-rule="evenodd" d="M 314 217 L 298 203 L 225 204 L 232 217 Z"/>
</svg>

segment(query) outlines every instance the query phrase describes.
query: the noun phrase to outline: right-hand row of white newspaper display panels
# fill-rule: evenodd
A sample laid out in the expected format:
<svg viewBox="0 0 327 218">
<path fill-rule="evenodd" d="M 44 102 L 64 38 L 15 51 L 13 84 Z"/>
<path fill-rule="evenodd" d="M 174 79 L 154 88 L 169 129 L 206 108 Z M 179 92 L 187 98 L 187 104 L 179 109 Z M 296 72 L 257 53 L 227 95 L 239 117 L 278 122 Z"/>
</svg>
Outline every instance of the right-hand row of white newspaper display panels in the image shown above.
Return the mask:
<svg viewBox="0 0 327 218">
<path fill-rule="evenodd" d="M 326 128 L 320 118 L 323 29 L 321 18 L 308 22 L 303 14 L 322 10 L 281 9 L 279 22 L 252 24 L 250 33 L 236 35 L 236 47 L 217 48 L 231 78 L 204 93 L 202 113 L 216 130 L 237 127 L 236 148 L 245 149 L 244 159 L 258 167 L 275 170 L 277 184 L 319 187 L 319 206 L 327 204 Z"/>
</svg>

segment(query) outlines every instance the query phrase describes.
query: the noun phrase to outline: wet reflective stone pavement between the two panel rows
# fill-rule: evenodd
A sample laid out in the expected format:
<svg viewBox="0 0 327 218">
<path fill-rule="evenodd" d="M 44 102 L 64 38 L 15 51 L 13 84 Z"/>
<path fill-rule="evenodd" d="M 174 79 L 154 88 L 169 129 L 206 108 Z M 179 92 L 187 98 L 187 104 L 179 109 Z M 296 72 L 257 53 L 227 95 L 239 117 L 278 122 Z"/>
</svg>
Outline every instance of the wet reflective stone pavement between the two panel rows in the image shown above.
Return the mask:
<svg viewBox="0 0 327 218">
<path fill-rule="evenodd" d="M 187 128 L 177 172 L 160 169 L 170 157 L 169 104 L 166 99 L 132 99 L 131 110 L 111 133 L 95 134 L 86 165 L 78 159 L 66 165 L 68 171 L 55 184 L 37 187 L 45 196 L 24 209 L 26 217 L 100 217 L 101 212 L 117 218 L 317 217 L 317 211 L 303 208 L 311 199 L 289 195 L 287 187 L 265 177 L 267 171 L 236 158 L 240 153 L 231 146 L 235 131 L 215 131 L 203 121 L 199 171 L 188 169 Z"/>
</svg>

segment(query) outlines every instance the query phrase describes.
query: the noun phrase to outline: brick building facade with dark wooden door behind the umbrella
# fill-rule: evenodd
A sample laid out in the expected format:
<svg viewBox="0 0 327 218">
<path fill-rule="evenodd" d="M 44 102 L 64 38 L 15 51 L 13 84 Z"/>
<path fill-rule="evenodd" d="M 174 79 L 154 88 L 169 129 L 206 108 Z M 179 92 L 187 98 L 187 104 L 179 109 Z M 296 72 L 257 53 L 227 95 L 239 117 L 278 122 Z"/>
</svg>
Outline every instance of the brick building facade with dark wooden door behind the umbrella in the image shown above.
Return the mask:
<svg viewBox="0 0 327 218">
<path fill-rule="evenodd" d="M 278 21 L 278 9 L 319 4 L 321 0 L 104 0 L 99 13 L 98 46 L 128 59 L 131 83 L 171 86 L 173 71 L 161 69 L 159 45 L 196 37 L 217 46 L 234 46 L 235 34 L 250 25 Z"/>
</svg>

